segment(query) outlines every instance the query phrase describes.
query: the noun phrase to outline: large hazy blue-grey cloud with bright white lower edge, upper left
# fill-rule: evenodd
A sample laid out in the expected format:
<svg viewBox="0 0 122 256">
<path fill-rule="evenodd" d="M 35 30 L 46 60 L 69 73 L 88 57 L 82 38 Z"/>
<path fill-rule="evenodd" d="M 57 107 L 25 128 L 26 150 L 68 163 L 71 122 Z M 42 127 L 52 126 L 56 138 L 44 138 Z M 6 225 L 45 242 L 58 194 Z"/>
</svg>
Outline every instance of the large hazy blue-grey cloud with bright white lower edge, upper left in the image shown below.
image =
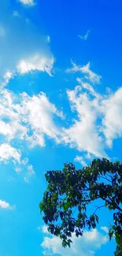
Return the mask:
<svg viewBox="0 0 122 256">
<path fill-rule="evenodd" d="M 21 2 L 24 7 L 34 6 L 36 4 L 36 0 L 16 1 Z M 2 1 L 0 1 L 0 9 L 2 9 Z M 0 22 L 1 85 L 2 77 L 8 70 L 16 74 L 17 65 L 20 65 L 20 71 L 24 73 L 24 68 L 26 72 L 27 70 L 30 72 L 40 69 L 41 71 L 50 72 L 51 61 L 53 61 L 54 57 L 52 56 L 49 42 L 46 39 L 47 35 L 39 32 L 33 21 L 29 20 L 28 16 L 23 17 L 18 9 L 13 9 L 8 13 L 7 8 L 5 8 L 4 11 L 3 20 L 7 17 L 7 23 L 4 22 L 2 24 L 2 20 Z M 22 29 L 21 26 L 23 27 Z M 38 62 L 37 64 L 36 61 Z M 43 64 L 43 62 L 45 63 Z"/>
</svg>

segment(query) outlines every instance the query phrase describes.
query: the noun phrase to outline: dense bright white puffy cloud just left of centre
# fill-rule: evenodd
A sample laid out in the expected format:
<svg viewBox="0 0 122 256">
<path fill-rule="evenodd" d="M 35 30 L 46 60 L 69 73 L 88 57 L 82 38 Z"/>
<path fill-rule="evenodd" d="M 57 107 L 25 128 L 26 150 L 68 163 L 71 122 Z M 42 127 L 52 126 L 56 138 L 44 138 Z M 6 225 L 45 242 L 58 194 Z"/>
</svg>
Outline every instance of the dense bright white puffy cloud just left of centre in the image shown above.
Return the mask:
<svg viewBox="0 0 122 256">
<path fill-rule="evenodd" d="M 23 94 L 21 113 L 23 115 L 24 123 L 31 128 L 32 135 L 28 136 L 28 142 L 31 143 L 31 147 L 35 145 L 45 146 L 44 135 L 55 139 L 59 142 L 58 136 L 60 135 L 60 129 L 54 124 L 54 116 L 62 117 L 62 113 L 59 113 L 44 93 L 39 95 L 33 95 L 32 97 L 27 94 Z"/>
</svg>

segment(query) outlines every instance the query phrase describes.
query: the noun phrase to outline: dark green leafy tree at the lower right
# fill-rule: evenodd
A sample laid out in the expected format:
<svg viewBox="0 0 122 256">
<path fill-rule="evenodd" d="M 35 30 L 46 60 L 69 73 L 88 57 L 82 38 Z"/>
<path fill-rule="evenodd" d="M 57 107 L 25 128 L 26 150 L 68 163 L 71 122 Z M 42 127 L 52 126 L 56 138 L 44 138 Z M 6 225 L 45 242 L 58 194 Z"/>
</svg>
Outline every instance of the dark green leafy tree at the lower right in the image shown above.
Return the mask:
<svg viewBox="0 0 122 256">
<path fill-rule="evenodd" d="M 122 255 L 122 164 L 105 158 L 96 159 L 91 165 L 76 170 L 66 163 L 61 171 L 46 173 L 47 189 L 39 207 L 48 231 L 59 236 L 63 247 L 70 247 L 72 233 L 83 236 L 83 228 L 96 228 L 98 210 L 108 208 L 113 214 L 109 239 L 116 238 L 116 256 Z M 88 206 L 93 203 L 93 213 Z M 120 254 L 121 253 L 121 254 Z"/>
</svg>

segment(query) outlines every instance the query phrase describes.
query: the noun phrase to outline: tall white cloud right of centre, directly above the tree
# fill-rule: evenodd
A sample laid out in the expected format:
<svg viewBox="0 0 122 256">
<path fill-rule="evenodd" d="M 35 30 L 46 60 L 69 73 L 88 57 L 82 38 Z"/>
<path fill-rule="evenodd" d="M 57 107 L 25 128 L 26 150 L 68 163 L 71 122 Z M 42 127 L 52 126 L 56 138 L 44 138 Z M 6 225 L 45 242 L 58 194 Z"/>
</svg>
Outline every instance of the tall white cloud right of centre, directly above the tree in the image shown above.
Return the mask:
<svg viewBox="0 0 122 256">
<path fill-rule="evenodd" d="M 78 150 L 103 157 L 105 145 L 103 146 L 103 138 L 97 126 L 100 114 L 99 98 L 90 98 L 87 93 L 82 93 L 80 86 L 75 90 L 68 90 L 67 94 L 72 112 L 76 113 L 77 117 L 69 128 L 64 129 L 64 142 Z"/>
</svg>

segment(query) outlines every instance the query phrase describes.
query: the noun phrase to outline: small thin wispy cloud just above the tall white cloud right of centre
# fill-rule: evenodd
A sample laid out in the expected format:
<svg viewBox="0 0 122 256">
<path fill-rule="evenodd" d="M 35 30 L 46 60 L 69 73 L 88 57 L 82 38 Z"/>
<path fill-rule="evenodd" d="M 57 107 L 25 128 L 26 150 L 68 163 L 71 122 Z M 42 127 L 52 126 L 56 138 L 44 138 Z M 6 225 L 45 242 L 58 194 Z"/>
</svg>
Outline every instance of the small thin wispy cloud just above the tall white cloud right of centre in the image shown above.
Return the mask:
<svg viewBox="0 0 122 256">
<path fill-rule="evenodd" d="M 100 83 L 100 80 L 102 76 L 99 76 L 95 72 L 91 71 L 90 69 L 90 62 L 87 63 L 87 65 L 76 65 L 76 63 L 72 62 L 72 68 L 67 69 L 66 72 L 81 72 L 84 74 L 84 78 L 88 80 L 91 83 Z"/>
</svg>

